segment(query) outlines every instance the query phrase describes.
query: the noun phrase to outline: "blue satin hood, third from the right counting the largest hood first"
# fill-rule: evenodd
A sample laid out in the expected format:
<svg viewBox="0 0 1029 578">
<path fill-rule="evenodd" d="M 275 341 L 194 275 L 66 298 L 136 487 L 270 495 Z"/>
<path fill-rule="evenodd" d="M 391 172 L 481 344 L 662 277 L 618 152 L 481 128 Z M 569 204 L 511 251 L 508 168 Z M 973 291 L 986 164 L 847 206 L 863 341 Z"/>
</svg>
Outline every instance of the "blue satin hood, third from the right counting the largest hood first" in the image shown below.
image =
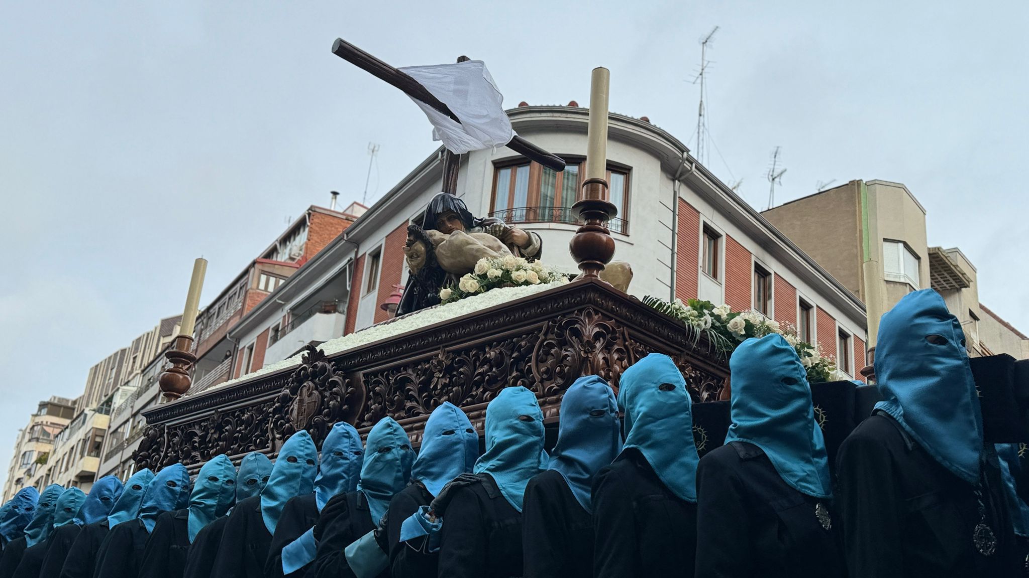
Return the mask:
<svg viewBox="0 0 1029 578">
<path fill-rule="evenodd" d="M 672 358 L 651 353 L 626 369 L 618 381 L 618 409 L 626 416 L 625 449 L 638 449 L 672 494 L 696 502 L 700 456 L 693 402 Z"/>
</svg>

